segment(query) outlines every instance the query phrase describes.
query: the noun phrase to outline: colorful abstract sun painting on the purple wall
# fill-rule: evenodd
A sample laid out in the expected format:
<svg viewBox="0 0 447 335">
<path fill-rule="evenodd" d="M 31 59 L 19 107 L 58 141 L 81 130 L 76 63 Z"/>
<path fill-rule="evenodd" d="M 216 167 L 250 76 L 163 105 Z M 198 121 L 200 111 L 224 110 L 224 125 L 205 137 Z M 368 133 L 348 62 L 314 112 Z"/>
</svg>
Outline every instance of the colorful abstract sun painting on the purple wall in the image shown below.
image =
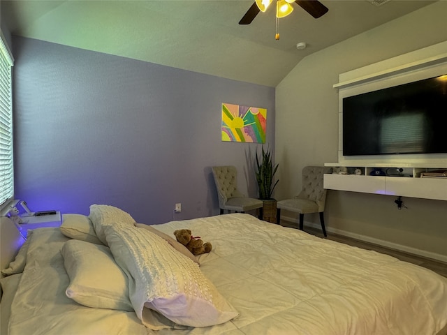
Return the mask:
<svg viewBox="0 0 447 335">
<path fill-rule="evenodd" d="M 222 103 L 222 141 L 265 143 L 267 109 Z"/>
</svg>

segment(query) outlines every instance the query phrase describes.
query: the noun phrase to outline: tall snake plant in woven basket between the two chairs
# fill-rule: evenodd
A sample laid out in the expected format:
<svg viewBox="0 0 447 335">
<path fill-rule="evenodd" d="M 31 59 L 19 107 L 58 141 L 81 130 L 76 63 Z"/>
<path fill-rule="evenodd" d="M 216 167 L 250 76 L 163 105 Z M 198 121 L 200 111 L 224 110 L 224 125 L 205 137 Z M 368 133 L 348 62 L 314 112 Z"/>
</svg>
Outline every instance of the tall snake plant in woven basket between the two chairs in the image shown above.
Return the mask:
<svg viewBox="0 0 447 335">
<path fill-rule="evenodd" d="M 259 199 L 263 200 L 263 219 L 275 223 L 277 216 L 277 200 L 272 198 L 273 190 L 278 181 L 274 181 L 278 164 L 273 164 L 270 149 L 262 147 L 261 157 L 256 149 L 256 181 L 258 182 Z"/>
</svg>

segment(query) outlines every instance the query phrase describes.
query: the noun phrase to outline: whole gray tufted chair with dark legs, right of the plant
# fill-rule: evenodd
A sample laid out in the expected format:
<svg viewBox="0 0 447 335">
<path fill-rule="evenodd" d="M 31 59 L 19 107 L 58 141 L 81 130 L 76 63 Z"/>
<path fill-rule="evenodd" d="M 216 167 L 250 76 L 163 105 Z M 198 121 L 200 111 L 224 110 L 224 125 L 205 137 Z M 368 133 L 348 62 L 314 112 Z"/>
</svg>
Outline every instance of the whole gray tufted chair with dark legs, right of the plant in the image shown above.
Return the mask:
<svg viewBox="0 0 447 335">
<path fill-rule="evenodd" d="M 332 168 L 306 166 L 302 169 L 302 190 L 291 199 L 277 202 L 277 223 L 281 219 L 281 209 L 300 214 L 300 230 L 303 229 L 304 214 L 319 213 L 321 229 L 327 236 L 324 226 L 324 207 L 326 190 L 323 188 L 323 174 L 332 172 Z"/>
</svg>

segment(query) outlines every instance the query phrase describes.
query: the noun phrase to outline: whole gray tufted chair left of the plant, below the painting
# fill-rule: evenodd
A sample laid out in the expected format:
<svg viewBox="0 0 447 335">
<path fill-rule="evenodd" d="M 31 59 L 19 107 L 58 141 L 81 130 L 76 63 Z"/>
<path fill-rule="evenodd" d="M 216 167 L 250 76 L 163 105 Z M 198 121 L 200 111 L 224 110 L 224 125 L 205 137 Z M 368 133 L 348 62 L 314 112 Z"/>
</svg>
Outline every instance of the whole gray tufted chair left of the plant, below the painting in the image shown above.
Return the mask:
<svg viewBox="0 0 447 335">
<path fill-rule="evenodd" d="M 260 209 L 262 218 L 262 200 L 247 198 L 237 190 L 237 170 L 234 166 L 214 166 L 212 174 L 216 183 L 217 195 L 219 196 L 219 207 L 221 214 L 226 209 L 230 211 L 250 211 Z"/>
</svg>

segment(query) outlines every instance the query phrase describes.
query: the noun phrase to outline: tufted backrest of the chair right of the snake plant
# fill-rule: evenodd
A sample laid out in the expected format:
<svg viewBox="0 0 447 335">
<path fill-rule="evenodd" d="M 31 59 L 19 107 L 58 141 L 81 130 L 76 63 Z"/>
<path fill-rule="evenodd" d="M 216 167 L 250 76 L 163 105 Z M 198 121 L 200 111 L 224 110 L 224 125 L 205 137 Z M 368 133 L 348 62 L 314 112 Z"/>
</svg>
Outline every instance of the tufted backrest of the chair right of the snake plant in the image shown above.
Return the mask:
<svg viewBox="0 0 447 335">
<path fill-rule="evenodd" d="M 312 200 L 318 204 L 318 211 L 324 211 L 326 190 L 323 188 L 323 174 L 332 168 L 305 166 L 302 169 L 302 190 L 295 198 Z"/>
</svg>

